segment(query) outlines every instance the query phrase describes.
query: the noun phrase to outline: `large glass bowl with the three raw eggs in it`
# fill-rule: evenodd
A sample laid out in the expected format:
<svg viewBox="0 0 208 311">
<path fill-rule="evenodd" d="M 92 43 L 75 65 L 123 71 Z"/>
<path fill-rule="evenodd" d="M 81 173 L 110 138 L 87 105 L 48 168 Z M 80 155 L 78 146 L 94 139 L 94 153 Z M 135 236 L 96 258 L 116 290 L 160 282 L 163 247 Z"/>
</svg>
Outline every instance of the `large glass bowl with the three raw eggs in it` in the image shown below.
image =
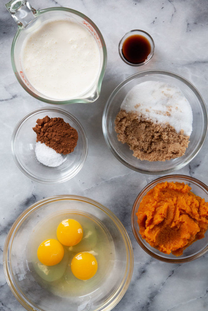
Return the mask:
<svg viewBox="0 0 208 311">
<path fill-rule="evenodd" d="M 133 249 L 119 219 L 86 197 L 28 207 L 4 245 L 7 283 L 27 310 L 111 310 L 126 292 Z"/>
</svg>

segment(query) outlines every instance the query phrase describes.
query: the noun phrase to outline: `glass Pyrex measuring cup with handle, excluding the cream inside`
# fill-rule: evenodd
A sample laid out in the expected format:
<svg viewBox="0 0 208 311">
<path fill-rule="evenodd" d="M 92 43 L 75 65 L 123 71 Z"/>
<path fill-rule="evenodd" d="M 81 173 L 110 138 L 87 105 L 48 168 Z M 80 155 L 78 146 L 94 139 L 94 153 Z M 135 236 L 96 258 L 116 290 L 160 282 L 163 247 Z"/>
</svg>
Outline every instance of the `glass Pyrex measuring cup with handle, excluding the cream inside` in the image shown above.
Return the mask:
<svg viewBox="0 0 208 311">
<path fill-rule="evenodd" d="M 17 33 L 12 42 L 11 60 L 15 76 L 22 87 L 33 97 L 49 104 L 90 103 L 95 101 L 100 94 L 101 83 L 107 63 L 107 50 L 103 36 L 93 21 L 84 14 L 66 7 L 50 7 L 43 10 L 36 10 L 31 7 L 27 0 L 12 0 L 6 3 L 5 6 L 18 25 Z M 60 100 L 42 94 L 31 85 L 22 66 L 22 46 L 27 35 L 40 27 L 43 22 L 53 20 L 70 20 L 82 25 L 94 37 L 99 48 L 100 67 L 94 83 L 87 91 L 76 96 L 76 98 Z"/>
</svg>

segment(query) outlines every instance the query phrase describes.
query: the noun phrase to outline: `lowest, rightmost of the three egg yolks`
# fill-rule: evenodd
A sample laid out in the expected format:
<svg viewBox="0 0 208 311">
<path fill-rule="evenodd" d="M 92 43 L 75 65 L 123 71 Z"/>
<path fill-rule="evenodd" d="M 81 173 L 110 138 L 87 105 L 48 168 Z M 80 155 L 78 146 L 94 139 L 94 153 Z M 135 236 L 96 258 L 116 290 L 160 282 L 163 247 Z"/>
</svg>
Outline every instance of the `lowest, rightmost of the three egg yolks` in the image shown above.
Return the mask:
<svg viewBox="0 0 208 311">
<path fill-rule="evenodd" d="M 96 258 L 88 252 L 78 253 L 71 261 L 71 271 L 80 280 L 89 280 L 98 269 Z"/>
</svg>

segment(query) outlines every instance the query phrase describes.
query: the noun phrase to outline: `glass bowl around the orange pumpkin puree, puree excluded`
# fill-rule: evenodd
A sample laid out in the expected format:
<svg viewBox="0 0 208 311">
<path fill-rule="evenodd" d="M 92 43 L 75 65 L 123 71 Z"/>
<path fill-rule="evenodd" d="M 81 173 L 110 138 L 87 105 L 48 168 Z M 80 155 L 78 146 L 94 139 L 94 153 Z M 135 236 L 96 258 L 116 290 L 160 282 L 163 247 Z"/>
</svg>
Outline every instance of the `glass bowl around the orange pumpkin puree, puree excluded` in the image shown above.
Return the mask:
<svg viewBox="0 0 208 311">
<path fill-rule="evenodd" d="M 151 247 L 149 243 L 145 241 L 145 239 L 142 239 L 139 233 L 139 225 L 137 222 L 138 218 L 136 216 L 136 212 L 138 211 L 139 204 L 143 196 L 145 196 L 150 189 L 156 186 L 157 183 L 162 183 L 165 181 L 188 184 L 191 187 L 191 192 L 193 192 L 197 196 L 200 196 L 201 198 L 204 198 L 205 201 L 208 202 L 208 187 L 204 183 L 199 181 L 198 179 L 195 179 L 190 176 L 185 176 L 185 175 L 168 175 L 168 176 L 157 178 L 153 180 L 151 183 L 149 183 L 146 187 L 143 188 L 143 190 L 138 194 L 138 197 L 136 198 L 133 204 L 132 213 L 131 213 L 132 231 L 138 244 L 150 256 L 156 259 L 159 259 L 161 261 L 164 261 L 164 262 L 172 262 L 172 263 L 189 262 L 189 261 L 199 258 L 200 256 L 202 256 L 208 251 L 208 230 L 206 231 L 205 237 L 203 239 L 197 240 L 196 242 L 191 244 L 189 247 L 187 247 L 183 251 L 183 254 L 178 257 L 172 254 L 168 255 L 168 254 L 162 253 L 158 249 Z"/>
</svg>

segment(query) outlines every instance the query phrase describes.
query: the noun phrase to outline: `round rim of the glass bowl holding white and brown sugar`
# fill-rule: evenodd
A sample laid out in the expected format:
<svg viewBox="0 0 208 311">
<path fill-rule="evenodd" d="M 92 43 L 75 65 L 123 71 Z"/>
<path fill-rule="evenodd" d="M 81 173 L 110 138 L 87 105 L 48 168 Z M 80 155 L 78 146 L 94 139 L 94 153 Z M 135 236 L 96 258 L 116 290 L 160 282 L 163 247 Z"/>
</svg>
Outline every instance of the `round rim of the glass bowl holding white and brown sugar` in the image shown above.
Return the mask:
<svg viewBox="0 0 208 311">
<path fill-rule="evenodd" d="M 202 133 L 202 137 L 201 137 L 201 141 L 198 145 L 198 147 L 196 148 L 196 150 L 192 153 L 191 156 L 189 156 L 188 158 L 184 159 L 183 162 L 179 163 L 176 166 L 173 166 L 172 168 L 169 169 L 161 169 L 159 171 L 151 171 L 148 169 L 140 169 L 140 168 L 136 168 L 133 165 L 127 163 L 125 160 L 123 160 L 120 155 L 115 151 L 114 146 L 112 145 L 109 137 L 108 137 L 108 130 L 107 130 L 107 114 L 109 112 L 109 108 L 110 105 L 112 104 L 112 100 L 114 99 L 114 97 L 116 96 L 116 94 L 120 91 L 120 89 L 127 84 L 129 81 L 134 80 L 134 78 L 139 78 L 139 77 L 143 77 L 143 76 L 148 76 L 148 75 L 154 75 L 154 74 L 161 74 L 161 75 L 166 75 L 166 76 L 170 76 L 173 78 L 176 78 L 177 80 L 183 82 L 184 84 L 186 84 L 191 91 L 194 92 L 194 94 L 196 95 L 197 99 L 199 100 L 199 103 L 201 105 L 201 108 L 203 110 L 203 117 L 204 117 L 204 128 L 203 128 L 203 133 Z M 194 157 L 198 154 L 198 152 L 200 151 L 201 147 L 203 146 L 203 143 L 206 139 L 206 135 L 207 135 L 207 127 L 208 124 L 208 114 L 207 114 L 207 109 L 206 109 L 206 104 L 201 96 L 201 94 L 199 93 L 199 91 L 196 89 L 196 87 L 189 82 L 188 80 L 186 80 L 186 78 L 181 77 L 180 75 L 170 72 L 170 71 L 165 71 L 165 70 L 160 70 L 160 69 L 155 69 L 155 70 L 145 70 L 145 71 L 141 71 L 138 73 L 135 73 L 129 77 L 127 77 L 126 79 L 124 79 L 118 86 L 116 86 L 116 88 L 114 89 L 114 91 L 110 94 L 105 107 L 104 107 L 104 111 L 103 111 L 103 118 L 102 118 L 102 128 L 103 128 L 103 134 L 104 134 L 104 138 L 105 138 L 105 142 L 107 144 L 107 146 L 109 147 L 110 151 L 112 152 L 112 154 L 116 157 L 117 160 L 119 160 L 123 165 L 127 166 L 130 169 L 133 169 L 136 172 L 139 173 L 143 173 L 143 174 L 150 174 L 150 175 L 159 175 L 159 174 L 167 174 L 167 173 L 171 173 L 175 170 L 181 169 L 182 167 L 184 167 L 185 165 L 187 165 L 191 160 L 194 159 Z"/>
</svg>

